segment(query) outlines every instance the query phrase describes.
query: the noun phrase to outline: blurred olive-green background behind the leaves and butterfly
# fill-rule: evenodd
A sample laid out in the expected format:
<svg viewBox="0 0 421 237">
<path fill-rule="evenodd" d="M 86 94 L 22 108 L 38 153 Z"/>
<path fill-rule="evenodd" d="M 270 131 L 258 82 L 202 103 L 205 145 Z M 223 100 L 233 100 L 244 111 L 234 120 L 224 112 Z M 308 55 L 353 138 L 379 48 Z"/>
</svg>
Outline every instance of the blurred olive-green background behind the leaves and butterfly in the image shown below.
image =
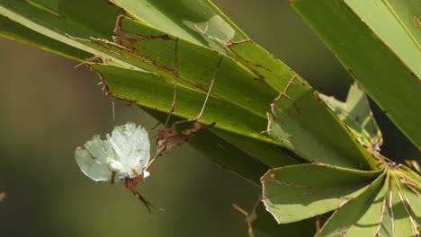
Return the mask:
<svg viewBox="0 0 421 237">
<path fill-rule="evenodd" d="M 286 0 L 214 3 L 320 92 L 345 99 L 350 76 Z M 244 216 L 231 204 L 250 209 L 259 189 L 190 145 L 160 158 L 150 179 L 139 185 L 165 212 L 149 215 L 122 183 L 86 178 L 74 149 L 112 130 L 111 101 L 96 85 L 97 75 L 10 40 L 0 40 L 0 52 L 0 190 L 7 193 L 0 202 L 1 236 L 246 236 Z M 116 124 L 132 121 L 148 129 L 156 124 L 139 108 L 116 102 Z M 417 149 L 373 110 L 383 131 L 383 153 L 396 161 L 419 161 Z"/>
</svg>

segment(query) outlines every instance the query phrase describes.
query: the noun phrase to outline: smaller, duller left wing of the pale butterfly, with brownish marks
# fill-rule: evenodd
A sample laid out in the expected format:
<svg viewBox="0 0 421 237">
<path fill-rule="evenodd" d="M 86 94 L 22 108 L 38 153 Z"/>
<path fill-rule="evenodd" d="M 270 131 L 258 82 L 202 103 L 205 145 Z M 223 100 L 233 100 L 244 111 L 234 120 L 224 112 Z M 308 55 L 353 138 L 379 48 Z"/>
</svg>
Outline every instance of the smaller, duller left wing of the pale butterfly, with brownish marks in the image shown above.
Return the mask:
<svg viewBox="0 0 421 237">
<path fill-rule="evenodd" d="M 100 136 L 94 136 L 85 143 L 85 149 L 77 147 L 75 151 L 76 163 L 87 177 L 95 181 L 111 180 L 112 171 L 106 163 L 107 157 L 113 157 L 112 146 Z"/>
</svg>

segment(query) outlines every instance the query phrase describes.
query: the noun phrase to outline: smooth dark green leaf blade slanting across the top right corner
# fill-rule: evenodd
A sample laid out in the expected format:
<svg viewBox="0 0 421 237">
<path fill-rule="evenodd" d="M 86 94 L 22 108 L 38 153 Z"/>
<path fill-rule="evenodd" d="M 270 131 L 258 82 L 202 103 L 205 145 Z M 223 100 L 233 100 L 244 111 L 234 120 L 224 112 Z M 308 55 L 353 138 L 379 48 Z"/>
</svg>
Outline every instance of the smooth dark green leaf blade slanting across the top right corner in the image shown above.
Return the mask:
<svg viewBox="0 0 421 237">
<path fill-rule="evenodd" d="M 291 5 L 381 110 L 420 149 L 421 134 L 417 130 L 421 127 L 421 119 L 418 119 L 421 107 L 416 100 L 421 94 L 419 70 L 408 67 L 393 48 L 354 13 L 348 2 L 352 1 L 300 0 L 292 1 Z M 381 24 L 389 25 L 388 22 Z M 412 50 L 413 54 L 421 58 L 419 49 Z M 412 63 L 419 67 L 419 61 Z"/>
</svg>

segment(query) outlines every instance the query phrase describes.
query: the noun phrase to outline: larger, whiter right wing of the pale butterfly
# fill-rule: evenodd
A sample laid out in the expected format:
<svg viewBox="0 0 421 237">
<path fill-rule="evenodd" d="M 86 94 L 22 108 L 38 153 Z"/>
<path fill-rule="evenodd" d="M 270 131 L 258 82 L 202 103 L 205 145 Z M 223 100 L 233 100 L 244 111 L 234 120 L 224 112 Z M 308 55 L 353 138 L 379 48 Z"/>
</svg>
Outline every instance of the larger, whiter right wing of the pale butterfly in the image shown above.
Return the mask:
<svg viewBox="0 0 421 237">
<path fill-rule="evenodd" d="M 118 156 L 116 160 L 123 164 L 130 178 L 136 176 L 132 169 L 140 174 L 149 162 L 150 143 L 148 132 L 143 127 L 136 127 L 134 123 L 114 127 L 110 144 Z"/>
</svg>

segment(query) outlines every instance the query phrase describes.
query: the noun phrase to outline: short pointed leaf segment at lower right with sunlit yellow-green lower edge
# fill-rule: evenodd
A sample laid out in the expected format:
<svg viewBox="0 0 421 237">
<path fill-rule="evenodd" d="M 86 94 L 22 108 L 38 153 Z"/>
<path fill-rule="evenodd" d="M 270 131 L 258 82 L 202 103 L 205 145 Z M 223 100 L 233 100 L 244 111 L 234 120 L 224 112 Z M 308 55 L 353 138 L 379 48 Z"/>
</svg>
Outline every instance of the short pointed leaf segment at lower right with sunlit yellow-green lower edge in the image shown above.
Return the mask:
<svg viewBox="0 0 421 237">
<path fill-rule="evenodd" d="M 336 210 L 355 197 L 380 171 L 357 171 L 323 164 L 276 168 L 262 177 L 264 204 L 280 224 Z"/>
</svg>

